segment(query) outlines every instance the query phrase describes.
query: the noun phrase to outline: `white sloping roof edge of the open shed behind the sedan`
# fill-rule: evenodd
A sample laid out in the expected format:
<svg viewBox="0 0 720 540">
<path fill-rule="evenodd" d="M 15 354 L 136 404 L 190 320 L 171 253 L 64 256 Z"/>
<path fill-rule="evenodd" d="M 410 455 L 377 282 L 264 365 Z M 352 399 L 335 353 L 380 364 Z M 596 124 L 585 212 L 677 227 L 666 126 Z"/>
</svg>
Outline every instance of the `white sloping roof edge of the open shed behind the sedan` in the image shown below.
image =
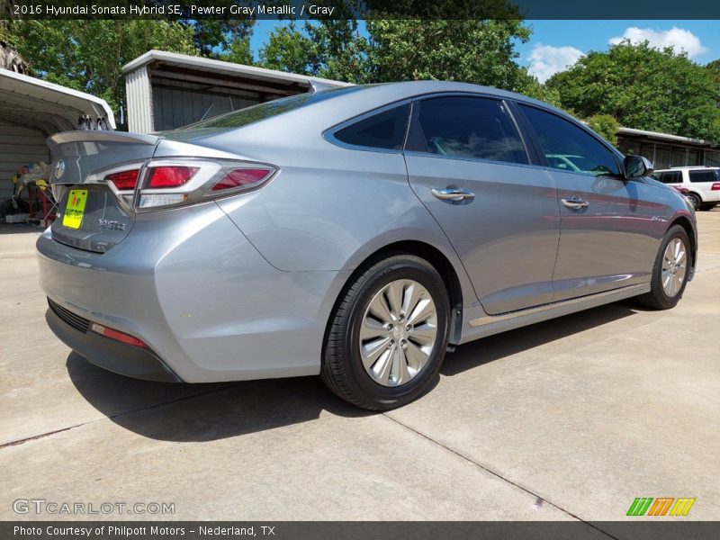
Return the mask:
<svg viewBox="0 0 720 540">
<path fill-rule="evenodd" d="M 258 81 L 266 81 L 273 83 L 301 84 L 311 87 L 311 80 L 316 80 L 322 85 L 330 87 L 351 86 L 350 83 L 334 81 L 320 77 L 312 77 L 307 75 L 298 75 L 297 73 L 286 73 L 276 69 L 266 69 L 265 67 L 246 66 L 244 64 L 235 64 L 233 62 L 224 62 L 222 60 L 214 60 L 211 58 L 193 57 L 186 54 L 176 52 L 166 52 L 164 50 L 148 50 L 142 56 L 135 58 L 122 67 L 122 73 L 128 73 L 147 66 L 152 62 L 161 62 L 165 65 L 177 67 L 187 67 L 193 71 L 207 71 L 212 74 L 220 74 L 226 76 L 242 76 L 243 78 L 256 79 Z"/>
</svg>

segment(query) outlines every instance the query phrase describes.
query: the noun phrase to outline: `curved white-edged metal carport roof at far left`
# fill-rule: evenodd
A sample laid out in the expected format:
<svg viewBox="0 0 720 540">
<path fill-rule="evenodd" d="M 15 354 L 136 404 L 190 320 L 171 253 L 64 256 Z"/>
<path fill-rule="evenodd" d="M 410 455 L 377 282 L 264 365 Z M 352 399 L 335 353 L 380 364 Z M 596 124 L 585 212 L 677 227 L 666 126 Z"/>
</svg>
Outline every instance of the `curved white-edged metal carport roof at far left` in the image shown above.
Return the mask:
<svg viewBox="0 0 720 540">
<path fill-rule="evenodd" d="M 0 68 L 0 120 L 43 130 L 48 135 L 75 130 L 77 118 L 103 116 L 115 129 L 115 117 L 103 99 L 33 76 Z"/>
</svg>

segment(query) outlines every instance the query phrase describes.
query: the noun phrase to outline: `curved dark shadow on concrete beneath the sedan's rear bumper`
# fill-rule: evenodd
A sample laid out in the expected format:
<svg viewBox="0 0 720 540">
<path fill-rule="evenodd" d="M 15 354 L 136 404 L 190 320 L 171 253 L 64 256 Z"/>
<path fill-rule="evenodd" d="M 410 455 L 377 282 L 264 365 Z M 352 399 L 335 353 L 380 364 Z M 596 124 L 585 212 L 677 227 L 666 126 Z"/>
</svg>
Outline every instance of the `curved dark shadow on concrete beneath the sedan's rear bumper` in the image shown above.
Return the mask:
<svg viewBox="0 0 720 540">
<path fill-rule="evenodd" d="M 318 419 L 368 416 L 320 377 L 241 383 L 153 383 L 112 374 L 73 352 L 67 373 L 80 394 L 118 426 L 164 441 L 211 441 Z"/>
</svg>

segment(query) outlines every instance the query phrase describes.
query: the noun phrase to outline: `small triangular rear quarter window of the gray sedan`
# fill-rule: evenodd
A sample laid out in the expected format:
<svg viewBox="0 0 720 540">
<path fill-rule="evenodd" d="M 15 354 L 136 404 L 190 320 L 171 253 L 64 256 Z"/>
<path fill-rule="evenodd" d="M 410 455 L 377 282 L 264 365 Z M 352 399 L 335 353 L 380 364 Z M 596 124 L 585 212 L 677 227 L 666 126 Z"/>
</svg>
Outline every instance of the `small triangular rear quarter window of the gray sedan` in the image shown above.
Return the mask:
<svg viewBox="0 0 720 540">
<path fill-rule="evenodd" d="M 356 121 L 336 131 L 334 137 L 354 146 L 401 150 L 409 115 L 410 105 L 400 105 Z"/>
</svg>

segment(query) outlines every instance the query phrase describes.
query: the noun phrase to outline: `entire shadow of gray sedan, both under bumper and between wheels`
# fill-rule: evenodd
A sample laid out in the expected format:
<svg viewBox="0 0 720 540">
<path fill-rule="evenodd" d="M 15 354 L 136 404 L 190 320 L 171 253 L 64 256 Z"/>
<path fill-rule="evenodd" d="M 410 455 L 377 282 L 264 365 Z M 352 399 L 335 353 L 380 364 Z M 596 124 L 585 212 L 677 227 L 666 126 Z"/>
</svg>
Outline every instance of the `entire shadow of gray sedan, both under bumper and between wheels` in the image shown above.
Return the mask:
<svg viewBox="0 0 720 540">
<path fill-rule="evenodd" d="M 463 373 L 504 356 L 635 313 L 620 302 L 484 338 L 458 347 L 440 373 Z M 293 377 L 241 383 L 174 384 L 139 381 L 112 374 L 70 353 L 67 373 L 77 392 L 118 426 L 164 441 L 211 441 L 282 428 L 320 418 L 323 411 L 356 418 L 375 414 L 330 392 L 320 377 Z M 434 387 L 439 381 L 436 377 Z"/>
</svg>

